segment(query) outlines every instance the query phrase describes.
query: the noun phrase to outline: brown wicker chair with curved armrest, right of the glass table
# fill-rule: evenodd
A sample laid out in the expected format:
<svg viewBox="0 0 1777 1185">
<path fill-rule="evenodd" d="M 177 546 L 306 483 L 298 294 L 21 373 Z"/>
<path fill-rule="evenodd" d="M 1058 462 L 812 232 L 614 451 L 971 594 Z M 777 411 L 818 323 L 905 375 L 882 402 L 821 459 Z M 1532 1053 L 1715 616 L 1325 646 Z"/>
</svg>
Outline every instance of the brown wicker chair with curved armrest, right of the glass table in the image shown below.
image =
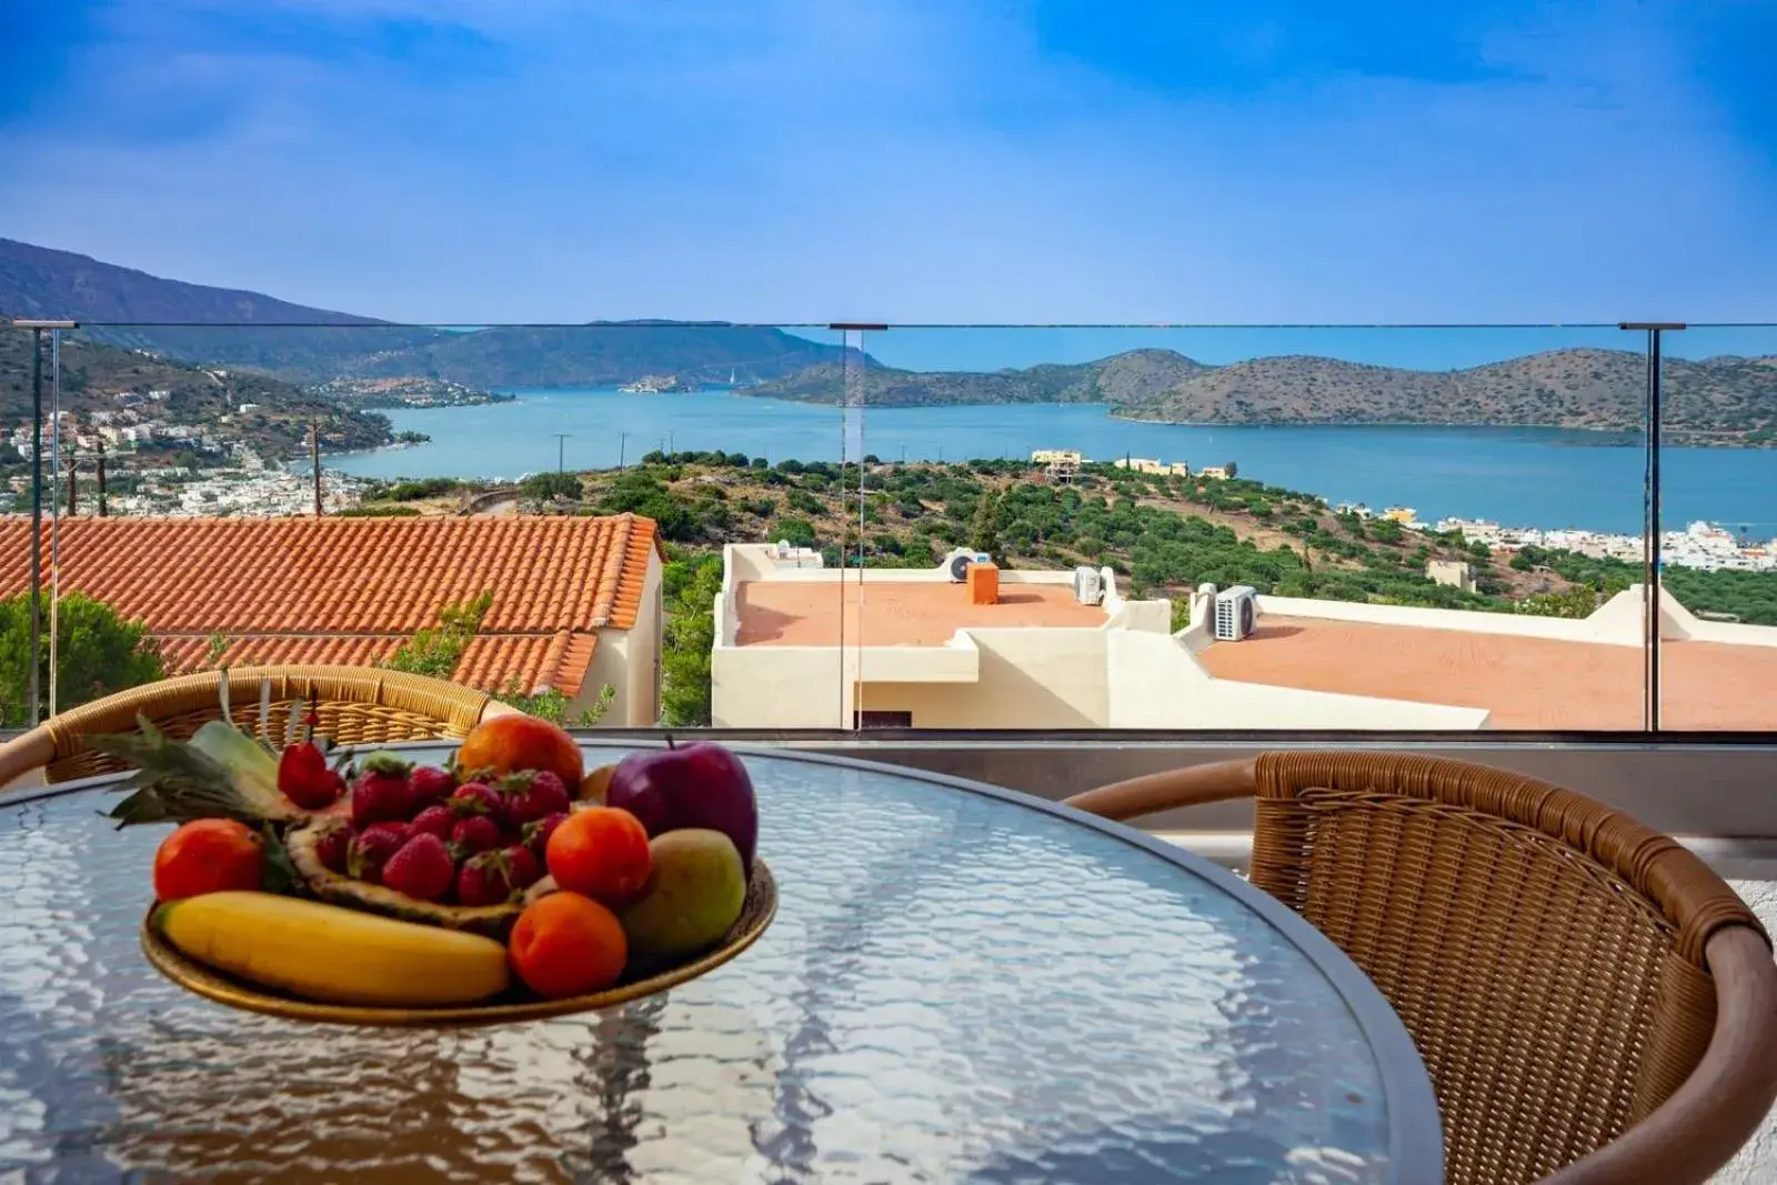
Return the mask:
<svg viewBox="0 0 1777 1185">
<path fill-rule="evenodd" d="M 1706 1181 L 1777 1096 L 1777 963 L 1676 840 L 1546 782 L 1265 753 L 1068 799 L 1109 819 L 1256 796 L 1251 879 L 1390 998 L 1457 1185 Z"/>
</svg>

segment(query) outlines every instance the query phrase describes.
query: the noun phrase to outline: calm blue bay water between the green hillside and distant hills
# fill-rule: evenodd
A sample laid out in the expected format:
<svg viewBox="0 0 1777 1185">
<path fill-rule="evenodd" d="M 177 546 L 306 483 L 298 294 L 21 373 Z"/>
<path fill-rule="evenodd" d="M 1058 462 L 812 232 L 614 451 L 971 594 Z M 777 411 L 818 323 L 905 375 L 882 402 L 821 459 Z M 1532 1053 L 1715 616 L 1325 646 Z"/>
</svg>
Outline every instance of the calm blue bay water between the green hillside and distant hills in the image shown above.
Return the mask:
<svg viewBox="0 0 1777 1185">
<path fill-rule="evenodd" d="M 396 428 L 430 444 L 329 457 L 345 473 L 517 478 L 634 462 L 649 449 L 723 449 L 771 462 L 837 460 L 844 412 L 707 391 L 514 391 L 517 403 L 394 410 Z M 556 441 L 554 433 L 569 433 Z M 853 437 L 855 441 L 857 437 Z M 855 448 L 855 444 L 853 444 Z M 1544 428 L 1176 426 L 1112 419 L 1102 407 L 988 405 L 864 414 L 864 451 L 883 460 L 1029 457 L 1077 448 L 1096 460 L 1134 453 L 1198 465 L 1239 462 L 1240 476 L 1329 501 L 1413 506 L 1422 519 L 1462 515 L 1507 526 L 1635 533 L 1642 517 L 1640 437 Z M 1709 519 L 1777 535 L 1777 449 L 1669 448 L 1669 528 Z"/>
</svg>

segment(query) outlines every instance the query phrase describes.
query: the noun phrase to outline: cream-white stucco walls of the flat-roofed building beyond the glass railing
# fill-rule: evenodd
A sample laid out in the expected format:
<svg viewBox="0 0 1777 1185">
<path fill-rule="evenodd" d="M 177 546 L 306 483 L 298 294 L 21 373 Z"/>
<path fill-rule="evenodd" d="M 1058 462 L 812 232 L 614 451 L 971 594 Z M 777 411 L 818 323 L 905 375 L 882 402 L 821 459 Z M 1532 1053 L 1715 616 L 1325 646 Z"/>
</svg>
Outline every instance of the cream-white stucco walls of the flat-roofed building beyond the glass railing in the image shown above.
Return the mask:
<svg viewBox="0 0 1777 1185">
<path fill-rule="evenodd" d="M 1123 600 L 1107 581 L 1107 622 L 1096 627 L 960 629 L 944 647 L 736 647 L 734 592 L 743 579 L 832 583 L 837 572 L 777 569 L 771 547 L 727 549 L 711 656 L 718 727 L 849 728 L 853 711 L 910 712 L 915 728 L 1484 728 L 1486 709 L 1304 691 L 1212 679 L 1196 652 L 1208 645 L 1208 599 L 1194 597 L 1176 636 L 1169 600 Z M 1105 572 L 1109 577 L 1111 574 Z M 867 583 L 929 583 L 935 570 L 869 572 Z M 1002 572 L 1006 585 L 1063 585 L 1070 572 Z M 1329 609 L 1331 606 L 1331 609 Z M 1260 609 L 1349 620 L 1420 624 L 1448 615 L 1391 606 L 1262 597 Z M 1400 615 L 1409 615 L 1404 622 Z M 1587 622 L 1464 613 L 1500 632 L 1573 636 Z M 1466 622 L 1464 622 L 1466 624 Z"/>
</svg>

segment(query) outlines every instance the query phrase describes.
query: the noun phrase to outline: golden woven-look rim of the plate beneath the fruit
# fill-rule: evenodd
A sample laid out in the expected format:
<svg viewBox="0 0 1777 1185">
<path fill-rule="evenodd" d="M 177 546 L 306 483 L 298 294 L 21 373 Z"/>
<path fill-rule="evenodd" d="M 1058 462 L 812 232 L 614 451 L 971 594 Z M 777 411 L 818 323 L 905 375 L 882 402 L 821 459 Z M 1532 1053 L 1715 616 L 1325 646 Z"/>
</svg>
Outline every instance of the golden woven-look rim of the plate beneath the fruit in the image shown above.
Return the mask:
<svg viewBox="0 0 1777 1185">
<path fill-rule="evenodd" d="M 366 1007 L 355 1004 L 320 1004 L 297 998 L 261 984 L 227 975 L 187 958 L 169 943 L 155 927 L 155 910 L 149 908 L 142 919 L 142 952 L 162 975 L 179 984 L 187 991 L 201 997 L 268 1016 L 284 1020 L 306 1020 L 336 1025 L 370 1027 L 467 1027 L 467 1025 L 506 1025 L 530 1020 L 549 1020 L 553 1016 L 572 1016 L 615 1007 L 631 1000 L 640 1000 L 677 984 L 705 975 L 734 956 L 753 945 L 771 919 L 777 915 L 777 881 L 764 860 L 755 860 L 752 876 L 746 881 L 746 903 L 741 917 L 716 945 L 679 963 L 656 963 L 650 966 L 633 966 L 611 988 L 590 995 L 563 998 L 540 998 L 514 988 L 485 1004 L 450 1006 L 450 1007 Z"/>
</svg>

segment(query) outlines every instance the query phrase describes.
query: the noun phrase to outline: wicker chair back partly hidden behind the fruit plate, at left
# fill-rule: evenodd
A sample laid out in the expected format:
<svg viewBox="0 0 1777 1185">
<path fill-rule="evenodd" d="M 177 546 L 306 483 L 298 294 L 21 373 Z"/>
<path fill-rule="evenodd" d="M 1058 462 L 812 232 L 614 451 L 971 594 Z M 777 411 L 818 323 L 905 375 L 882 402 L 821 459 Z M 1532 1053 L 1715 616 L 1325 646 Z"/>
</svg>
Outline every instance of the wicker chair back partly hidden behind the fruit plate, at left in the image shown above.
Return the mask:
<svg viewBox="0 0 1777 1185">
<path fill-rule="evenodd" d="M 222 672 L 179 675 L 62 712 L 0 744 L 0 787 L 37 769 L 44 782 L 119 769 L 87 748 L 87 737 L 135 732 L 139 712 L 169 736 L 188 737 L 222 718 Z M 297 700 L 316 707 L 318 730 L 339 744 L 460 737 L 487 716 L 517 711 L 482 691 L 371 666 L 240 666 L 227 672 L 227 698 L 235 723 L 251 730 L 268 704 L 267 734 L 279 744 Z"/>
</svg>

